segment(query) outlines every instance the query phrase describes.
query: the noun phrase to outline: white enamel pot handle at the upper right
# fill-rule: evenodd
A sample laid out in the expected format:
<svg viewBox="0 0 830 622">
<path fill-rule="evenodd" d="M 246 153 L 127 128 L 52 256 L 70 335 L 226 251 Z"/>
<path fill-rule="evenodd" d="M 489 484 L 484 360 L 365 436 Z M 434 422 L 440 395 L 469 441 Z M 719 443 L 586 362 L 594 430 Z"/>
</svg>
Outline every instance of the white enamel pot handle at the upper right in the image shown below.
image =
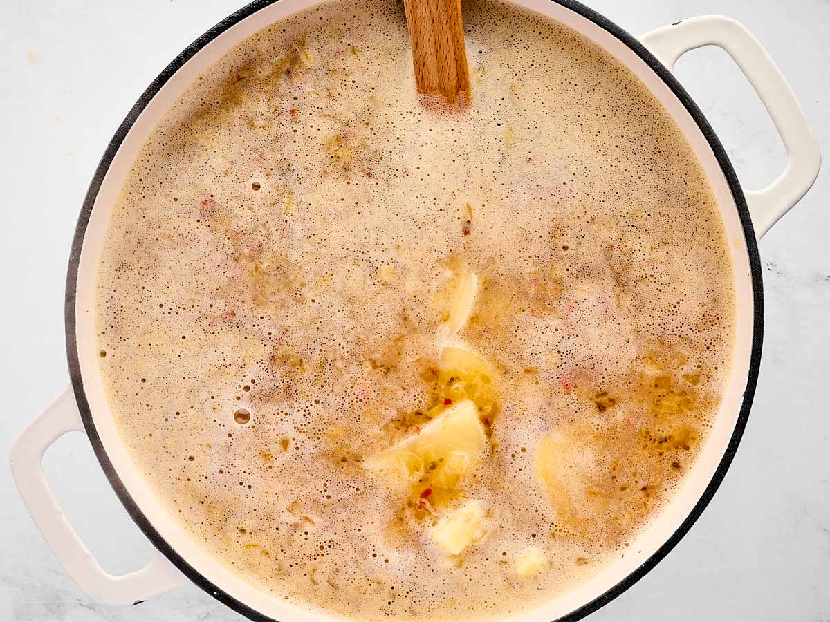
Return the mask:
<svg viewBox="0 0 830 622">
<path fill-rule="evenodd" d="M 822 155 L 813 131 L 787 80 L 764 47 L 743 24 L 722 15 L 692 17 L 640 37 L 642 44 L 670 71 L 687 51 L 718 46 L 744 72 L 778 129 L 788 162 L 769 186 L 746 192 L 746 202 L 760 240 L 813 186 Z"/>
</svg>

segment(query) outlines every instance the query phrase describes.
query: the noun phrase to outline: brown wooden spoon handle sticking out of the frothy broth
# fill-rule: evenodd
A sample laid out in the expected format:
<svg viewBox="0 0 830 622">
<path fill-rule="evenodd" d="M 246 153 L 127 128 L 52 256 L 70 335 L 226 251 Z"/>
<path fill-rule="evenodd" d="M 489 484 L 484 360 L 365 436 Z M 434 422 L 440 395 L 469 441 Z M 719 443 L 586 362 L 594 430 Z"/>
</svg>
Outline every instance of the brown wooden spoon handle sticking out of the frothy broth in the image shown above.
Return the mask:
<svg viewBox="0 0 830 622">
<path fill-rule="evenodd" d="M 459 91 L 470 100 L 461 0 L 403 0 L 418 93 L 444 95 L 455 104 Z"/>
</svg>

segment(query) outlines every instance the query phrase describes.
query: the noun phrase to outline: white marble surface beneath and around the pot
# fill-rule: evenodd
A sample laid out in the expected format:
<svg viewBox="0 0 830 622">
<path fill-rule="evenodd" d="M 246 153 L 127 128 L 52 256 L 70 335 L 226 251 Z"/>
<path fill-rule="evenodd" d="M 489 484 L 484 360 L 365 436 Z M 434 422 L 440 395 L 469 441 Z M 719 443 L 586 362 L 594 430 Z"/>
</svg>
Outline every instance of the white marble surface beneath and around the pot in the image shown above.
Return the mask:
<svg viewBox="0 0 830 622">
<path fill-rule="evenodd" d="M 242 0 L 0 2 L 0 454 L 67 385 L 63 288 L 76 216 L 100 154 L 144 87 Z M 593 0 L 629 32 L 721 12 L 767 46 L 830 153 L 826 0 Z M 720 51 L 678 65 L 745 187 L 784 149 Z M 830 620 L 830 166 L 760 245 L 766 335 L 743 443 L 701 520 L 665 561 L 590 620 Z M 4 459 L 5 462 L 5 459 Z M 104 566 L 133 570 L 149 544 L 106 484 L 85 437 L 64 437 L 46 473 Z M 0 620 L 242 620 L 193 586 L 129 608 L 66 577 L 0 468 Z"/>
</svg>

